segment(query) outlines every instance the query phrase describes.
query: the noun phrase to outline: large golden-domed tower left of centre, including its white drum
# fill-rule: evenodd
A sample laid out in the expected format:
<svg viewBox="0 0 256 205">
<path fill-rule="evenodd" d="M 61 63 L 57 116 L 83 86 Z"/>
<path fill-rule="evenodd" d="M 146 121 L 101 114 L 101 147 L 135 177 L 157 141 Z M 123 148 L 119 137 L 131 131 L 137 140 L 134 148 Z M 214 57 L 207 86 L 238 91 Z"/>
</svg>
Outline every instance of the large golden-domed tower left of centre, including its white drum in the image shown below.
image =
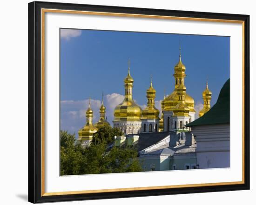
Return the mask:
<svg viewBox="0 0 256 205">
<path fill-rule="evenodd" d="M 130 75 L 130 61 L 128 61 L 128 75 L 124 78 L 125 96 L 123 102 L 115 107 L 114 128 L 119 128 L 125 135 L 137 134 L 141 128 L 141 107 L 133 100 L 134 80 Z"/>
</svg>

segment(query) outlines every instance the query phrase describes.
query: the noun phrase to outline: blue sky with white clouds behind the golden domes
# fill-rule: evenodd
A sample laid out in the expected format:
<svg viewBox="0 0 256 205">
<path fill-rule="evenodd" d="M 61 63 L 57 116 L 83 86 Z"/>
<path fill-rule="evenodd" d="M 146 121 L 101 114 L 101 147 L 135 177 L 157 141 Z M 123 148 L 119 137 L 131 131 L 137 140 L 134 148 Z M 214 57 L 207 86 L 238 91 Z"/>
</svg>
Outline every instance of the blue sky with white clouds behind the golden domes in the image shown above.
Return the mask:
<svg viewBox="0 0 256 205">
<path fill-rule="evenodd" d="M 213 105 L 229 78 L 229 37 L 61 30 L 61 128 L 77 132 L 84 125 L 89 96 L 93 99 L 96 122 L 102 91 L 108 121 L 113 120 L 113 109 L 121 102 L 124 93 L 128 58 L 135 81 L 135 101 L 145 106 L 152 75 L 160 106 L 164 90 L 166 94 L 174 90 L 172 75 L 179 59 L 180 41 L 187 93 L 194 98 L 198 109 L 202 107 L 202 91 L 208 78 Z"/>
</svg>

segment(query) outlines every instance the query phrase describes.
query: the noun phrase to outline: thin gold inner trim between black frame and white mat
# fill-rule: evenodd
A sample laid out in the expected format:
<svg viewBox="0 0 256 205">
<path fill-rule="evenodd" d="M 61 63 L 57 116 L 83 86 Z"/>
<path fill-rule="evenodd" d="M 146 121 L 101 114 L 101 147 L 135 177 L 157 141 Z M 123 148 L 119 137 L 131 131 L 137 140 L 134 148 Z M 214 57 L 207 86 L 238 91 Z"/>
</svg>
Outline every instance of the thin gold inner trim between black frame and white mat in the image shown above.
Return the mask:
<svg viewBox="0 0 256 205">
<path fill-rule="evenodd" d="M 151 19 L 172 19 L 172 20 L 192 20 L 192 21 L 207 21 L 207 22 L 222 22 L 222 23 L 238 23 L 242 24 L 242 181 L 235 182 L 217 182 L 204 184 L 187 184 L 187 185 L 171 185 L 171 186 L 147 186 L 147 187 L 132 187 L 132 188 L 118 188 L 118 189 L 101 189 L 101 190 L 83 190 L 83 191 L 69 191 L 69 192 L 45 192 L 45 13 L 69 13 L 69 14 L 87 14 L 87 15 L 101 15 L 101 16 L 119 16 L 119 17 L 136 17 L 136 18 L 151 18 Z M 108 12 L 91 12 L 91 11 L 73 11 L 61 9 L 41 9 L 41 196 L 67 195 L 67 194 L 83 194 L 83 193 L 102 193 L 102 192 L 125 192 L 138 190 L 153 190 L 153 189 L 169 189 L 169 188 L 184 188 L 184 187 L 199 187 L 199 186 L 224 186 L 224 185 L 239 185 L 244 184 L 244 21 L 243 20 L 223 20 L 223 19 L 204 19 L 204 18 L 190 18 L 190 17 L 175 17 L 175 16 L 161 16 L 161 15 L 144 15 L 132 13 L 108 13 Z"/>
</svg>

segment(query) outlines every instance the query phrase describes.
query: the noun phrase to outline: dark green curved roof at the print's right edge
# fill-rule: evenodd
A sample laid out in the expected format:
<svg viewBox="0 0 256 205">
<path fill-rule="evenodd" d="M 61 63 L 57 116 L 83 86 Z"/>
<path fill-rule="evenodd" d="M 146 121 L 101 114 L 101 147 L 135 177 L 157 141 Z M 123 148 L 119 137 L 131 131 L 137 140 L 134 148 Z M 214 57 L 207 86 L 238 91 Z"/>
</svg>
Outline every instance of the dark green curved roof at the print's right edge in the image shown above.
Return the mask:
<svg viewBox="0 0 256 205">
<path fill-rule="evenodd" d="M 202 117 L 186 126 L 212 125 L 229 123 L 229 79 L 223 85 L 216 104 Z"/>
</svg>

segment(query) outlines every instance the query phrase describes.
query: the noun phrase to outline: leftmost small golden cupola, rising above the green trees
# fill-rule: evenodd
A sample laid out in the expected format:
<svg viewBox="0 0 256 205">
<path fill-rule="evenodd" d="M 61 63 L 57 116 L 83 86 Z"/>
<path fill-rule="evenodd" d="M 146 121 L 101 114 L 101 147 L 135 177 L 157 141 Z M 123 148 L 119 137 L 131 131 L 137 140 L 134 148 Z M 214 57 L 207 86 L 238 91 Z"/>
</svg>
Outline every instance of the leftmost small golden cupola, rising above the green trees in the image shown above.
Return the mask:
<svg viewBox="0 0 256 205">
<path fill-rule="evenodd" d="M 93 124 L 93 110 L 91 109 L 91 98 L 89 99 L 89 107 L 86 111 L 86 124 L 78 131 L 78 140 L 91 141 L 93 135 L 97 132 L 97 128 Z"/>
</svg>

